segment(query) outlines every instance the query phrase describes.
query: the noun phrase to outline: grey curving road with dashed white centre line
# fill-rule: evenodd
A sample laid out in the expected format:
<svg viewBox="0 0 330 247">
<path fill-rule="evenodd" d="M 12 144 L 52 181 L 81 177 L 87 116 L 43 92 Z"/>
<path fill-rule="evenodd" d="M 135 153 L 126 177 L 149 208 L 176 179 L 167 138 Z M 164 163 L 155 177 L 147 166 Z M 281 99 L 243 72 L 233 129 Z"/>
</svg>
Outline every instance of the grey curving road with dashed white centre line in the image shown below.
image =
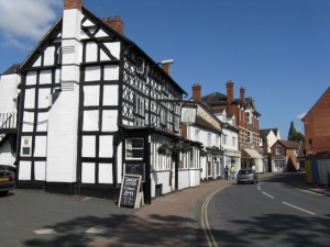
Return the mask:
<svg viewBox="0 0 330 247">
<path fill-rule="evenodd" d="M 292 187 L 299 176 L 278 173 L 210 194 L 198 215 L 198 246 L 329 246 L 330 199 Z"/>
</svg>

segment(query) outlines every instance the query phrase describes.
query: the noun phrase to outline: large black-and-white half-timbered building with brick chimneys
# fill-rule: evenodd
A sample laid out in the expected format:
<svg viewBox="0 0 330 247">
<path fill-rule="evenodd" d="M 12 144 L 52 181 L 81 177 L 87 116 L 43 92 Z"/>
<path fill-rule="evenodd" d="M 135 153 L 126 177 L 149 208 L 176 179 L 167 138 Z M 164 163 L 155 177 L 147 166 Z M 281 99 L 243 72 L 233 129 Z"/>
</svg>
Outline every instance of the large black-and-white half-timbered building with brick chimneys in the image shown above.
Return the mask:
<svg viewBox="0 0 330 247">
<path fill-rule="evenodd" d="M 169 65 L 125 37 L 119 16 L 99 19 L 81 0 L 65 0 L 15 71 L 18 186 L 113 198 L 132 172 L 143 177 L 146 203 L 183 189 L 180 172 L 199 172 L 199 144 L 180 136 L 186 92 Z M 164 145 L 189 148 L 168 155 Z"/>
</svg>

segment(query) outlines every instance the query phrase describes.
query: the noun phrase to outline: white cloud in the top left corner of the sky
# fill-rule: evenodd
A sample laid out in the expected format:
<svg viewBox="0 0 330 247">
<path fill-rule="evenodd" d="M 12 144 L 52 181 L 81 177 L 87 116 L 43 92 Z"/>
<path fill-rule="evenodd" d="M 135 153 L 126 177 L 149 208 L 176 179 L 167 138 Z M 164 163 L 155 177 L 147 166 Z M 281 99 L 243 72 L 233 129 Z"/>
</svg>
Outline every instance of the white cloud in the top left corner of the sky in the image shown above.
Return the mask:
<svg viewBox="0 0 330 247">
<path fill-rule="evenodd" d="M 15 47 L 38 41 L 59 18 L 61 0 L 0 0 L 0 32 Z"/>
</svg>

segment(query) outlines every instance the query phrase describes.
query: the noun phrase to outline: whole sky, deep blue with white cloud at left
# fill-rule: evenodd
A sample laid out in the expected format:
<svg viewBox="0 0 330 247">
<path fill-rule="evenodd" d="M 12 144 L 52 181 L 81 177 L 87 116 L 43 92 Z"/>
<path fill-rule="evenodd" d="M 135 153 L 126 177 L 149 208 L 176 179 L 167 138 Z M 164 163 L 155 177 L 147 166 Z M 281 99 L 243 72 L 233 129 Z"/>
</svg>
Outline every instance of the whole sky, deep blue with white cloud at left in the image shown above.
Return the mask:
<svg viewBox="0 0 330 247">
<path fill-rule="evenodd" d="M 100 18 L 120 15 L 124 35 L 155 61 L 174 59 L 170 75 L 191 97 L 234 82 L 252 97 L 261 128 L 287 139 L 290 122 L 330 86 L 329 0 L 84 0 Z M 0 0 L 0 74 L 22 63 L 61 16 L 63 0 Z"/>
</svg>

